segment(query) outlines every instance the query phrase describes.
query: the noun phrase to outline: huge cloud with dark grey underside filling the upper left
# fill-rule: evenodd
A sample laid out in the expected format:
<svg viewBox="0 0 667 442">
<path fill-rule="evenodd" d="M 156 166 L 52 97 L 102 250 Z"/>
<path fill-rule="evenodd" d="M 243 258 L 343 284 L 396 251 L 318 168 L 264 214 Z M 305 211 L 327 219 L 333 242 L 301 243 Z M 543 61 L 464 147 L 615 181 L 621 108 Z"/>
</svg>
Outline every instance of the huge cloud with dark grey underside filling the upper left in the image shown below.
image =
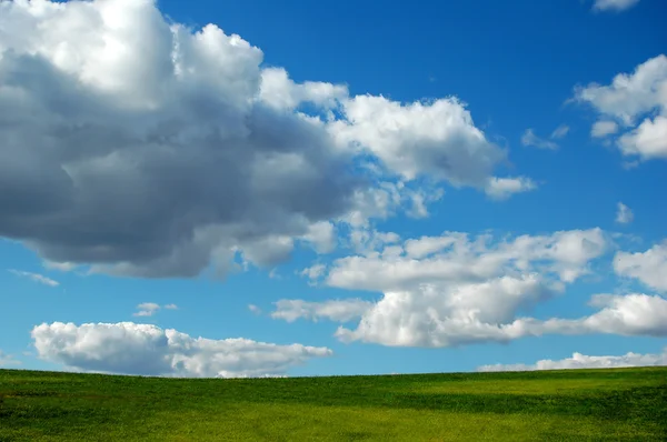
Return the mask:
<svg viewBox="0 0 667 442">
<path fill-rule="evenodd" d="M 349 97 L 262 58 L 155 0 L 0 1 L 0 235 L 52 265 L 225 274 L 299 241 L 330 251 L 331 220 L 426 213 L 416 184 L 364 172 L 365 155 L 482 191 L 506 159 L 454 98 Z M 382 201 L 391 185 L 398 200 Z"/>
</svg>

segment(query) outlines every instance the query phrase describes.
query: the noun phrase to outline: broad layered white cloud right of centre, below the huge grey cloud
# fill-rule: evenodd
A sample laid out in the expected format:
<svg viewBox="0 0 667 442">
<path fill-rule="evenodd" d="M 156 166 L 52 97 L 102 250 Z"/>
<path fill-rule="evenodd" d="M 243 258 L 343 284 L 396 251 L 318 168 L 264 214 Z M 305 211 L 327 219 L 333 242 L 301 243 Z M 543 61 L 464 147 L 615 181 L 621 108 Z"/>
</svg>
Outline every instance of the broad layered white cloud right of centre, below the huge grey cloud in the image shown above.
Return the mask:
<svg viewBox="0 0 667 442">
<path fill-rule="evenodd" d="M 329 287 L 382 293 L 342 341 L 451 346 L 539 334 L 519 314 L 590 272 L 608 250 L 599 229 L 494 239 L 446 232 L 336 260 Z"/>
</svg>

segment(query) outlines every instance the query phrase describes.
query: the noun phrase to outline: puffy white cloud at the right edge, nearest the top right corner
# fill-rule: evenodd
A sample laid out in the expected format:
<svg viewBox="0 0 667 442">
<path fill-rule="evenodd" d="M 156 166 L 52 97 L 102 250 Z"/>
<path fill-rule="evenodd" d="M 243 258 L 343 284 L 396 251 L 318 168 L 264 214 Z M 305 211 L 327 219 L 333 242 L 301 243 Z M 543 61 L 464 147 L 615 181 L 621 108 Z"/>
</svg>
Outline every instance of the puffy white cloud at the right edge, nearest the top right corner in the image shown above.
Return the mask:
<svg viewBox="0 0 667 442">
<path fill-rule="evenodd" d="M 594 138 L 615 134 L 623 128 L 616 144 L 624 155 L 667 159 L 665 54 L 645 61 L 633 73 L 617 74 L 609 86 L 578 87 L 575 99 L 590 104 L 600 115 L 591 129 Z"/>
</svg>

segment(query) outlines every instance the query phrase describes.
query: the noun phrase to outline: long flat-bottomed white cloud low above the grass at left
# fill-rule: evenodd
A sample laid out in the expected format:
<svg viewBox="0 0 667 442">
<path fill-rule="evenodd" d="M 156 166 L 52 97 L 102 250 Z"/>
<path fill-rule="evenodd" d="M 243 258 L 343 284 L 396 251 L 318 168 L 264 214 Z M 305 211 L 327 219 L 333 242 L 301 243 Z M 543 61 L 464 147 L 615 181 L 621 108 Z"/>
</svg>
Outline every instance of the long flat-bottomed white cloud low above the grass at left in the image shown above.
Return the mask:
<svg viewBox="0 0 667 442">
<path fill-rule="evenodd" d="M 121 323 L 43 323 L 32 329 L 41 359 L 69 369 L 159 376 L 282 375 L 327 348 L 278 345 L 247 339 L 191 338 L 172 329 Z"/>
</svg>

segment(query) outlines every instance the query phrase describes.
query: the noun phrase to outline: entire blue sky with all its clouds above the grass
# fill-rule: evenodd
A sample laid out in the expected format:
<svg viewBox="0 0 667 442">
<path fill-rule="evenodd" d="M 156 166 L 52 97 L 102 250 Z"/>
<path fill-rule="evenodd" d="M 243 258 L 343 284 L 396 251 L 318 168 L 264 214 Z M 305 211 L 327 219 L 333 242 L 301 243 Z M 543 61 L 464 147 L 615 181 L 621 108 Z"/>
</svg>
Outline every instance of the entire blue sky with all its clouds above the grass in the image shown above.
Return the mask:
<svg viewBox="0 0 667 442">
<path fill-rule="evenodd" d="M 0 0 L 0 366 L 667 364 L 666 16 Z"/>
</svg>

